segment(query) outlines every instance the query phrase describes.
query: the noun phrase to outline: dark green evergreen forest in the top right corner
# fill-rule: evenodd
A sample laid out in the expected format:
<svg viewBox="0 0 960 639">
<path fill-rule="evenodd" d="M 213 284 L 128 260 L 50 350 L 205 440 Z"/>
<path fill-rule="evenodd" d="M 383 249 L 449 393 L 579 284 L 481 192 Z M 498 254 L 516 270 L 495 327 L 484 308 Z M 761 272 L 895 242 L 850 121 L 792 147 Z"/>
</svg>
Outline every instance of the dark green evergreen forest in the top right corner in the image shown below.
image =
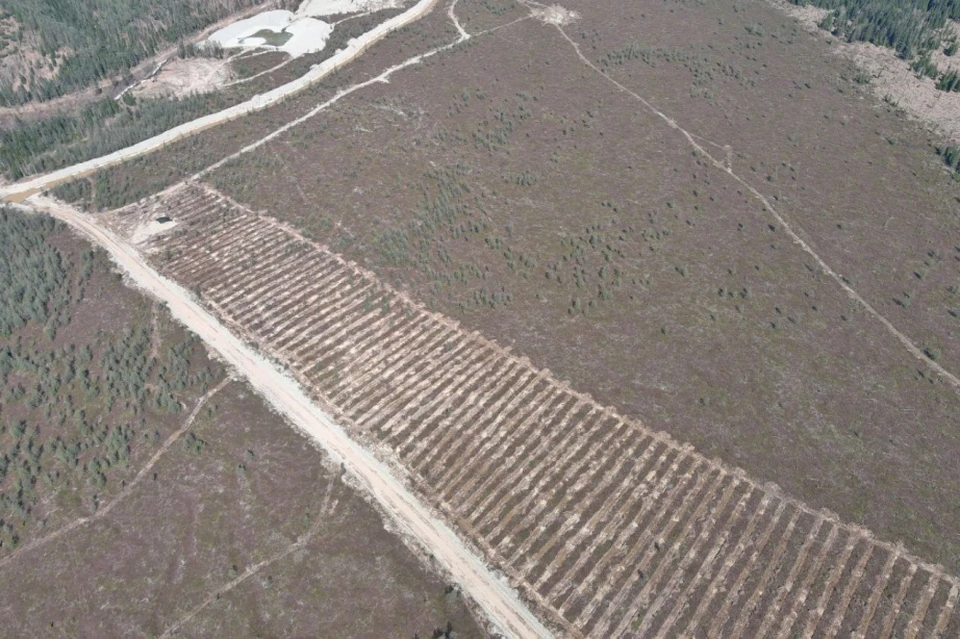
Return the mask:
<svg viewBox="0 0 960 639">
<path fill-rule="evenodd" d="M 830 13 L 820 26 L 850 42 L 870 42 L 895 49 L 913 60 L 933 49 L 953 47 L 944 32 L 947 20 L 960 19 L 957 0 L 790 0 Z M 948 53 L 950 51 L 948 50 Z"/>
</svg>

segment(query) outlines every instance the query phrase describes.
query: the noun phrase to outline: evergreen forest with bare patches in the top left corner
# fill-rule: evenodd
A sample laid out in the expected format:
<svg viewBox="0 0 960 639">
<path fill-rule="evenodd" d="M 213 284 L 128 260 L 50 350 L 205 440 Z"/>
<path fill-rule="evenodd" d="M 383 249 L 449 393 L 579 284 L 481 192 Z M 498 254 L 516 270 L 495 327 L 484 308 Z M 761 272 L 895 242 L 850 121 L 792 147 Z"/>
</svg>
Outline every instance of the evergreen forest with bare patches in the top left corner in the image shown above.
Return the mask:
<svg viewBox="0 0 960 639">
<path fill-rule="evenodd" d="M 0 0 L 0 105 L 50 100 L 127 70 L 264 0 Z"/>
</svg>

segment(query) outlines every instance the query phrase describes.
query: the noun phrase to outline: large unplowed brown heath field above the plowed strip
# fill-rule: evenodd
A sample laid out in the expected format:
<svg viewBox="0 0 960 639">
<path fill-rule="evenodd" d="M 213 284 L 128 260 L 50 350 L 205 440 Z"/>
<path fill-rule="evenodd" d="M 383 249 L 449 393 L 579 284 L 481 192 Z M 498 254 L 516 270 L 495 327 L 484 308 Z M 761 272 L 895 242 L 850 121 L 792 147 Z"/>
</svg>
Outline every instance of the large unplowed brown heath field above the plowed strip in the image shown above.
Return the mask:
<svg viewBox="0 0 960 639">
<path fill-rule="evenodd" d="M 773 9 L 570 8 L 597 64 L 729 149 L 956 371 L 957 188 L 923 132 Z M 956 393 L 561 43 L 530 20 L 476 38 L 209 179 L 604 403 L 956 569 Z"/>
</svg>

